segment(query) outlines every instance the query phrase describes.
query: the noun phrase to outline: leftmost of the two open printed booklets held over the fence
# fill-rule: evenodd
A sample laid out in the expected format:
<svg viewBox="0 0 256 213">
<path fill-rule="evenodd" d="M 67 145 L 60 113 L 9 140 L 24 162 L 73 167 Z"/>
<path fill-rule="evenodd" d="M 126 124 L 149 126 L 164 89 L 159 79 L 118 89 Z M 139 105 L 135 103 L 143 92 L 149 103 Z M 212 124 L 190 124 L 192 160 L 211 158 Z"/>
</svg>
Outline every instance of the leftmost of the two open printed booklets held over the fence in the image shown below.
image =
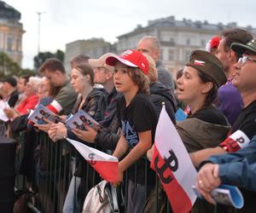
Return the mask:
<svg viewBox="0 0 256 213">
<path fill-rule="evenodd" d="M 48 108 L 43 105 L 39 105 L 34 111 L 31 111 L 28 118 L 35 124 L 48 124 L 61 122 L 54 112 L 51 112 Z"/>
</svg>

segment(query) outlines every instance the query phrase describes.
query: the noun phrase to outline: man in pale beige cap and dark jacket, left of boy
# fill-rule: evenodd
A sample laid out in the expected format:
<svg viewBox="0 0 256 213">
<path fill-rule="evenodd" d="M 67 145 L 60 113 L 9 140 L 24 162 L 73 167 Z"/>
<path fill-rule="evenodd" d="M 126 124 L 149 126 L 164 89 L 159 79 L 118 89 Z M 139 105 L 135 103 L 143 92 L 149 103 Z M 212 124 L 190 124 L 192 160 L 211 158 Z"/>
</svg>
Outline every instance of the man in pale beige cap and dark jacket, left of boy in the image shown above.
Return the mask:
<svg viewBox="0 0 256 213">
<path fill-rule="evenodd" d="M 116 103 L 119 97 L 122 95 L 116 91 L 113 83 L 113 66 L 108 66 L 106 64 L 106 59 L 113 54 L 108 53 L 102 55 L 99 59 L 90 59 L 88 63 L 90 66 L 94 67 L 94 83 L 102 84 L 103 88 L 106 90 L 107 96 L 107 109 L 104 112 L 104 118 L 100 124 L 107 130 L 102 130 L 96 132 L 92 128 L 88 127 L 87 131 L 80 131 L 79 138 L 91 142 L 96 143 L 98 146 L 104 149 L 114 149 L 116 146 L 116 142 L 119 141 L 119 135 L 112 134 L 116 133 L 119 126 L 117 122 L 117 118 L 115 116 L 116 113 Z"/>
</svg>

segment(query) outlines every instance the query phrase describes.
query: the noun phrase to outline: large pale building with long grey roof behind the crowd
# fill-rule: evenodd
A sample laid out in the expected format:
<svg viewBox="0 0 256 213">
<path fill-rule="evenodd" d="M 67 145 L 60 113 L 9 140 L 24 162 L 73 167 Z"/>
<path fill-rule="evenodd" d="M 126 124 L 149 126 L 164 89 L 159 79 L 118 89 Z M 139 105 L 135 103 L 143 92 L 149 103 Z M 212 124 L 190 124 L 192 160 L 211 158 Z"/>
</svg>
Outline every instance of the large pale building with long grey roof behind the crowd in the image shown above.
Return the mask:
<svg viewBox="0 0 256 213">
<path fill-rule="evenodd" d="M 206 49 L 207 42 L 226 29 L 236 28 L 235 22 L 224 25 L 210 24 L 207 21 L 175 20 L 170 16 L 158 20 L 149 20 L 148 26 L 137 26 L 132 31 L 118 37 L 117 53 L 125 49 L 135 49 L 138 41 L 144 36 L 154 36 L 160 41 L 160 59 L 166 68 L 175 76 L 182 69 L 193 49 Z M 255 35 L 256 29 L 251 26 L 241 27 Z"/>
</svg>

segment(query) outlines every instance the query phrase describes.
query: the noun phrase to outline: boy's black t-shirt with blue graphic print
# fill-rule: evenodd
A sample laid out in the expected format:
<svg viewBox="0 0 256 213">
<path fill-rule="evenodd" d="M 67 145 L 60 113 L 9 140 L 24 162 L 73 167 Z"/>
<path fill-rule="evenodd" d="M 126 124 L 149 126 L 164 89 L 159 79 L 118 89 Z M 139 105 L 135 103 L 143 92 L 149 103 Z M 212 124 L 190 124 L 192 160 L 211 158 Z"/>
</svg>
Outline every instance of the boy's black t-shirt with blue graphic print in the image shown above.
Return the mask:
<svg viewBox="0 0 256 213">
<path fill-rule="evenodd" d="M 132 149 L 139 142 L 138 132 L 151 130 L 152 143 L 157 124 L 156 112 L 148 95 L 137 93 L 126 107 L 125 97 L 120 98 L 117 104 L 117 117 L 119 127 L 122 129 L 128 146 Z M 142 141 L 143 142 L 143 141 Z M 147 174 L 145 168 L 147 167 Z M 137 170 L 137 176 L 135 175 Z M 154 171 L 149 168 L 149 161 L 146 157 L 137 160 L 137 163 L 129 169 L 131 181 L 145 184 L 145 176 L 148 177 L 149 185 L 154 185 Z"/>
</svg>

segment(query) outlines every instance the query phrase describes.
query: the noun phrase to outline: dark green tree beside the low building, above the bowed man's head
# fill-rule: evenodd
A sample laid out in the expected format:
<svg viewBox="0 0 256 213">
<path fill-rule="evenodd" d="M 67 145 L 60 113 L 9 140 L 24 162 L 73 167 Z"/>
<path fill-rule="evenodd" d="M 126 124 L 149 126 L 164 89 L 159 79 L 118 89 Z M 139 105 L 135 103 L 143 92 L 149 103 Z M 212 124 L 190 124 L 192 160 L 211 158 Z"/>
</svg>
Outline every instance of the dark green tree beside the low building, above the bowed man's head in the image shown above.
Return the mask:
<svg viewBox="0 0 256 213">
<path fill-rule="evenodd" d="M 34 57 L 34 69 L 38 71 L 38 68 L 44 63 L 45 60 L 49 58 L 57 58 L 63 62 L 64 60 L 64 52 L 60 49 L 57 49 L 55 53 L 51 52 L 40 52 L 38 55 Z"/>
</svg>

